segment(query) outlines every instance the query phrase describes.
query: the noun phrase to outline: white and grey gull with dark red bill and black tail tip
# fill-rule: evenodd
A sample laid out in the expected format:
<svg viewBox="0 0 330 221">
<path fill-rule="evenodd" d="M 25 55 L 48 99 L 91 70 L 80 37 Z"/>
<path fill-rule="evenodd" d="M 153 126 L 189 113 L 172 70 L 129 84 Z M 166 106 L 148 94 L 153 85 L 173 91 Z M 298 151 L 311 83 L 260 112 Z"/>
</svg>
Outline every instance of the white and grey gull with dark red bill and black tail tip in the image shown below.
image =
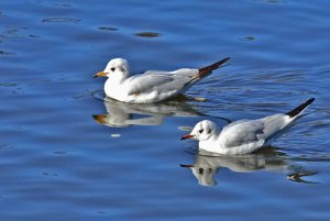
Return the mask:
<svg viewBox="0 0 330 221">
<path fill-rule="evenodd" d="M 199 141 L 200 150 L 218 154 L 249 154 L 270 145 L 279 137 L 314 100 L 315 98 L 311 98 L 287 113 L 277 113 L 257 120 L 234 121 L 221 131 L 215 122 L 204 120 L 182 140 L 195 139 Z"/>
</svg>

